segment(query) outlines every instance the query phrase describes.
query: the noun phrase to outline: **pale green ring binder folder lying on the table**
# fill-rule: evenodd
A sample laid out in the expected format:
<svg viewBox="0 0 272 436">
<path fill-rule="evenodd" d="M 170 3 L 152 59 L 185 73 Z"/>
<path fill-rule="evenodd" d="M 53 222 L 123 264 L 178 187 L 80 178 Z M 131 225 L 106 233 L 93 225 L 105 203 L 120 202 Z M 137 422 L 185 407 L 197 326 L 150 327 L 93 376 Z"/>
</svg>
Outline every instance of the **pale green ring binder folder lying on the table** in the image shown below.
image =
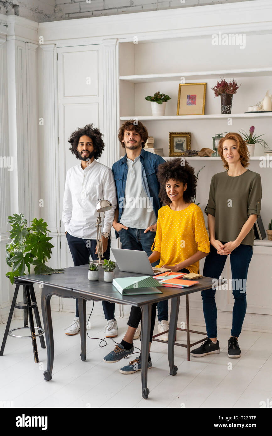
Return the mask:
<svg viewBox="0 0 272 436">
<path fill-rule="evenodd" d="M 151 276 L 121 277 L 112 284 L 122 295 L 162 294 L 155 286 L 158 281 Z"/>
</svg>

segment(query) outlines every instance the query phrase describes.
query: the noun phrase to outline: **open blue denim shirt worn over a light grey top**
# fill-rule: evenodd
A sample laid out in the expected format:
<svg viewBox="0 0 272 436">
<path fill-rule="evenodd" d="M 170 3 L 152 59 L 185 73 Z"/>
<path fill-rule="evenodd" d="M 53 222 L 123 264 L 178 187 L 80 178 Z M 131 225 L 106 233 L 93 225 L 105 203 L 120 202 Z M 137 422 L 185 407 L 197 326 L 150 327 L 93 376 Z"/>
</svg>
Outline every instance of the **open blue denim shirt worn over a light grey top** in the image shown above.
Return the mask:
<svg viewBox="0 0 272 436">
<path fill-rule="evenodd" d="M 148 198 L 152 201 L 153 210 L 155 212 L 156 218 L 158 218 L 158 210 L 162 207 L 161 202 L 158 198 L 158 193 L 160 190 L 160 184 L 157 179 L 157 171 L 158 165 L 163 164 L 165 162 L 161 156 L 157 154 L 150 153 L 149 151 L 145 151 L 143 148 L 140 154 L 141 160 L 141 180 L 142 185 L 145 189 L 145 193 Z M 114 181 L 116 185 L 117 191 L 117 202 L 119 207 L 119 216 L 118 222 L 120 222 L 120 218 L 123 210 L 123 202 L 120 201 L 121 198 L 124 198 L 125 195 L 125 187 L 127 181 L 127 154 L 122 157 L 120 160 L 117 160 L 115 164 L 112 166 L 112 172 L 114 174 Z"/>
</svg>

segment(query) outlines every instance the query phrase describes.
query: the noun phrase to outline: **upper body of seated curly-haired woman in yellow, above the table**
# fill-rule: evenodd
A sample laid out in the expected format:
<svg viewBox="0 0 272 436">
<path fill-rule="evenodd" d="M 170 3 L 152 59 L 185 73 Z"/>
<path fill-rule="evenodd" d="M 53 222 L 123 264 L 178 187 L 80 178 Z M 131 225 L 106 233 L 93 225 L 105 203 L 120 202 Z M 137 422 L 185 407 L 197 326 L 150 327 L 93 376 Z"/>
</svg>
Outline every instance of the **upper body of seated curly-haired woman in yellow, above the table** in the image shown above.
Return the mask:
<svg viewBox="0 0 272 436">
<path fill-rule="evenodd" d="M 150 262 L 173 272 L 199 272 L 199 261 L 210 252 L 203 213 L 193 203 L 196 196 L 194 169 L 183 158 L 158 167 L 160 198 L 157 232 Z"/>
</svg>

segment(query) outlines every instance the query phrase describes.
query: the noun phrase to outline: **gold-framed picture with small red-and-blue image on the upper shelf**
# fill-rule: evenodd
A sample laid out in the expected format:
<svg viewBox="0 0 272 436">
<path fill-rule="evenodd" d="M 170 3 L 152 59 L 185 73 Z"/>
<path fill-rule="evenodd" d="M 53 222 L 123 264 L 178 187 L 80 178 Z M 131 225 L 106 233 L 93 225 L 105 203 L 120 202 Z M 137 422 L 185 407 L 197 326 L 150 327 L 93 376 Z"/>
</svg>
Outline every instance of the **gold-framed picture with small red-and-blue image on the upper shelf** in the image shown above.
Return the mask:
<svg viewBox="0 0 272 436">
<path fill-rule="evenodd" d="M 204 115 L 207 83 L 180 83 L 177 115 Z"/>
</svg>

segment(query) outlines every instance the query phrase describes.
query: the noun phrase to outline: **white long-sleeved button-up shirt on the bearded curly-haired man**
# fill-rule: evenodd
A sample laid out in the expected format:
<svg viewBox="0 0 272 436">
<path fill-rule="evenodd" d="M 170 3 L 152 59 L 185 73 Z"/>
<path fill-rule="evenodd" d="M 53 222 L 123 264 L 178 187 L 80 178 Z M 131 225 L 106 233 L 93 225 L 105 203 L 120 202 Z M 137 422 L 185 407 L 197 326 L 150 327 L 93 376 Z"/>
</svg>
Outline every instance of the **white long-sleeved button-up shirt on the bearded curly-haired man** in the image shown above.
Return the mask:
<svg viewBox="0 0 272 436">
<path fill-rule="evenodd" d="M 83 239 L 96 239 L 96 204 L 109 200 L 113 208 L 100 214 L 102 232 L 110 233 L 117 208 L 114 176 L 110 168 L 93 160 L 84 170 L 81 164 L 66 174 L 62 222 L 65 232 Z"/>
</svg>

